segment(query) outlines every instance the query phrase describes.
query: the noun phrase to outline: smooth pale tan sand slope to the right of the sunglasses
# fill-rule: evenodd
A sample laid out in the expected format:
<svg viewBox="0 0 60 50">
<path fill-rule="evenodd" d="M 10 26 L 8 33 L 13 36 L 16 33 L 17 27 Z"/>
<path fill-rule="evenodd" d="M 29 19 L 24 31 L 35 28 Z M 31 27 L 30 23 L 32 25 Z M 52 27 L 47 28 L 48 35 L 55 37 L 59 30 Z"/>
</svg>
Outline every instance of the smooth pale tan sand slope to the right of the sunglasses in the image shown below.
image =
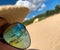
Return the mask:
<svg viewBox="0 0 60 50">
<path fill-rule="evenodd" d="M 60 14 L 27 26 L 31 36 L 29 50 L 60 50 Z"/>
</svg>

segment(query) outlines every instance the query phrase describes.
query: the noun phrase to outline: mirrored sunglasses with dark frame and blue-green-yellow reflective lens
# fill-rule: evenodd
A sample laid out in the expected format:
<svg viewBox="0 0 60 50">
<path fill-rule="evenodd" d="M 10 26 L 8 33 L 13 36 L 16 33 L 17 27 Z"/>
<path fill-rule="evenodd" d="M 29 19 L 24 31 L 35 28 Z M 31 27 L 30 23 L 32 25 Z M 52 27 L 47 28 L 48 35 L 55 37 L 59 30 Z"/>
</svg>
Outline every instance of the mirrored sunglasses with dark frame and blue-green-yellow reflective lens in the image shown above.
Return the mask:
<svg viewBox="0 0 60 50">
<path fill-rule="evenodd" d="M 8 45 L 26 49 L 31 44 L 29 32 L 22 23 L 5 24 L 1 27 L 0 41 L 4 41 Z"/>
</svg>

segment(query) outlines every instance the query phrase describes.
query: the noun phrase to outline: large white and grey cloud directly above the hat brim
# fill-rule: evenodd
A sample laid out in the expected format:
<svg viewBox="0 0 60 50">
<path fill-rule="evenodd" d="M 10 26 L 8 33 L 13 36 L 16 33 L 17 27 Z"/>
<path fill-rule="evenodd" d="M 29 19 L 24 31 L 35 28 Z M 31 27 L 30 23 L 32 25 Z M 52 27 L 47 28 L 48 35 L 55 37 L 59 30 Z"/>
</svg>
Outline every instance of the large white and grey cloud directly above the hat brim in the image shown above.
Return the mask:
<svg viewBox="0 0 60 50">
<path fill-rule="evenodd" d="M 31 2 L 29 1 L 30 0 L 18 0 L 15 5 L 25 6 L 28 7 L 30 11 L 35 11 L 38 7 L 41 6 L 41 3 L 44 2 L 44 0 L 32 0 Z M 43 4 L 41 7 L 43 8 L 44 6 L 45 5 Z"/>
</svg>

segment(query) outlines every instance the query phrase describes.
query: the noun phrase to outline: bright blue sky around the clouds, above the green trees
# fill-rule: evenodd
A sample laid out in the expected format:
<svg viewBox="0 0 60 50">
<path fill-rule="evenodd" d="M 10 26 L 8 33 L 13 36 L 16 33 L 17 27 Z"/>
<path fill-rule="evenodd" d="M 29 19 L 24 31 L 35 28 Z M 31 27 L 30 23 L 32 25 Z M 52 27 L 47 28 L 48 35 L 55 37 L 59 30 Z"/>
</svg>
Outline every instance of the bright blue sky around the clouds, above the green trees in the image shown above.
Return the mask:
<svg viewBox="0 0 60 50">
<path fill-rule="evenodd" d="M 0 0 L 0 5 L 14 5 L 18 0 Z M 36 0 L 36 2 L 39 0 Z M 47 10 L 52 10 L 56 5 L 60 5 L 60 0 L 45 0 L 35 11 L 30 12 L 25 20 L 33 18 L 39 14 L 45 13 Z"/>
</svg>

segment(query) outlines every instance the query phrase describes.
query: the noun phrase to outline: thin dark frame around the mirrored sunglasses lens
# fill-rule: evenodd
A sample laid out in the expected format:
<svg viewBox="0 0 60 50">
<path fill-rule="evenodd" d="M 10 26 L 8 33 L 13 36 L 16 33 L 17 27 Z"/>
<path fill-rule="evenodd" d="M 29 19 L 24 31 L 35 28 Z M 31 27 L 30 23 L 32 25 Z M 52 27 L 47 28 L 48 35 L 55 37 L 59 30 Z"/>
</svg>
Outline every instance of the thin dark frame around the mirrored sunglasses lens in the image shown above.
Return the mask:
<svg viewBox="0 0 60 50">
<path fill-rule="evenodd" d="M 19 22 L 17 22 L 17 23 L 13 23 L 13 24 L 22 24 L 22 23 L 19 23 Z M 30 38 L 30 44 L 29 44 L 29 46 L 27 47 L 27 48 L 17 48 L 17 47 L 14 47 L 14 46 L 12 46 L 12 45 L 10 45 L 9 43 L 7 43 L 6 42 L 6 40 L 4 39 L 4 31 L 9 27 L 9 26 L 11 26 L 11 25 L 13 25 L 13 24 L 9 24 L 9 23 L 7 23 L 7 24 L 5 24 L 4 26 L 2 26 L 1 28 L 3 29 L 4 28 L 4 30 L 3 30 L 3 33 L 2 34 L 0 34 L 0 41 L 2 41 L 2 42 L 4 42 L 5 44 L 7 44 L 7 45 L 9 45 L 9 46 L 11 46 L 11 47 L 13 47 L 13 48 L 16 48 L 16 49 L 18 49 L 18 50 L 25 50 L 25 49 L 27 49 L 30 45 L 31 45 L 31 38 L 30 38 L 30 35 L 29 35 L 29 33 L 28 33 L 28 35 L 29 35 L 29 38 Z M 23 24 L 22 24 L 23 25 Z M 24 26 L 24 25 L 23 25 Z M 26 27 L 24 26 L 24 28 L 26 29 Z M 27 29 L 26 29 L 26 31 L 27 31 Z M 27 31 L 28 32 L 28 31 Z"/>
</svg>

